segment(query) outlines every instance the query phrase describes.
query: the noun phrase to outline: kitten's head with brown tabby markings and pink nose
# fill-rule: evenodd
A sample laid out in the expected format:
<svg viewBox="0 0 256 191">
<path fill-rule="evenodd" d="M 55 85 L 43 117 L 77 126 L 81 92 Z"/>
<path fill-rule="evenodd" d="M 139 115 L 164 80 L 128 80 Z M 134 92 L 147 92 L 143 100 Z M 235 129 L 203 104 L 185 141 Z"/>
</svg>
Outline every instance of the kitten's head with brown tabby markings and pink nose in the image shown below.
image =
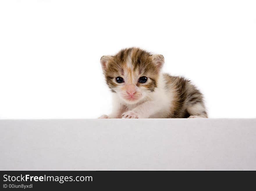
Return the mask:
<svg viewBox="0 0 256 191">
<path fill-rule="evenodd" d="M 114 56 L 100 59 L 106 83 L 125 103 L 134 104 L 157 88 L 162 55 L 138 48 L 123 49 Z"/>
</svg>

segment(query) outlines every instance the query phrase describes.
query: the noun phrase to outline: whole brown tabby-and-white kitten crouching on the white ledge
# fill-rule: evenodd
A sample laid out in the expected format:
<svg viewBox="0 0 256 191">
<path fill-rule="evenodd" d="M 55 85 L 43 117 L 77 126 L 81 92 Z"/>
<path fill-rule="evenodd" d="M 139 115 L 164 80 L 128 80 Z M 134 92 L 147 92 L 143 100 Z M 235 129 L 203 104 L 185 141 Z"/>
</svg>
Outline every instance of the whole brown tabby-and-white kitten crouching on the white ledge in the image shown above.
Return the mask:
<svg viewBox="0 0 256 191">
<path fill-rule="evenodd" d="M 113 111 L 99 118 L 207 118 L 203 95 L 189 80 L 161 73 L 162 55 L 127 48 L 100 62 Z"/>
</svg>

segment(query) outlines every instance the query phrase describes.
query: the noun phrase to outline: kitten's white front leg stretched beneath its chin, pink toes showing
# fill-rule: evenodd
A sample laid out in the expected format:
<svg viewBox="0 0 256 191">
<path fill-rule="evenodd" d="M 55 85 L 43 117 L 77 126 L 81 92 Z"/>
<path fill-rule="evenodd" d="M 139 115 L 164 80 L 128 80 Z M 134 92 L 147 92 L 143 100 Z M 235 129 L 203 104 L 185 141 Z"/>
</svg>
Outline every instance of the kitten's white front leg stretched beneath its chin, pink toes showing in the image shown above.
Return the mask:
<svg viewBox="0 0 256 191">
<path fill-rule="evenodd" d="M 150 115 L 157 113 L 161 109 L 161 104 L 156 101 L 147 101 L 122 114 L 122 118 L 138 119 L 148 118 Z"/>
</svg>

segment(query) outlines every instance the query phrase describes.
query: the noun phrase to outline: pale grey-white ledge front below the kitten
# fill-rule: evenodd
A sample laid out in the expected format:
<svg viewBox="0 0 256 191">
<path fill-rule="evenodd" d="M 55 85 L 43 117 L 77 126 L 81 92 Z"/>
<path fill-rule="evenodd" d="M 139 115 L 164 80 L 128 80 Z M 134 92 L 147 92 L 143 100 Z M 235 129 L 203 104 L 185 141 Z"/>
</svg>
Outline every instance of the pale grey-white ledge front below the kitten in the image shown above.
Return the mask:
<svg viewBox="0 0 256 191">
<path fill-rule="evenodd" d="M 0 170 L 256 170 L 256 119 L 0 120 Z"/>
</svg>

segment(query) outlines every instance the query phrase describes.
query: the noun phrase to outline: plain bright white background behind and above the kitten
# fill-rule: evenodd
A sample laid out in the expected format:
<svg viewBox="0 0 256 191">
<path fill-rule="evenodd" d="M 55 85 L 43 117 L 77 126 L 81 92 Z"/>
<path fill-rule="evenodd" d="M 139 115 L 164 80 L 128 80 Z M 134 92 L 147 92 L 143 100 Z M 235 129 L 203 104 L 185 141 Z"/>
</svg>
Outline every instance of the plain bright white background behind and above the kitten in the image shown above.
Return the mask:
<svg viewBox="0 0 256 191">
<path fill-rule="evenodd" d="M 209 117 L 256 117 L 255 1 L 0 1 L 0 119 L 96 118 L 111 110 L 99 59 L 165 57 Z"/>
</svg>

